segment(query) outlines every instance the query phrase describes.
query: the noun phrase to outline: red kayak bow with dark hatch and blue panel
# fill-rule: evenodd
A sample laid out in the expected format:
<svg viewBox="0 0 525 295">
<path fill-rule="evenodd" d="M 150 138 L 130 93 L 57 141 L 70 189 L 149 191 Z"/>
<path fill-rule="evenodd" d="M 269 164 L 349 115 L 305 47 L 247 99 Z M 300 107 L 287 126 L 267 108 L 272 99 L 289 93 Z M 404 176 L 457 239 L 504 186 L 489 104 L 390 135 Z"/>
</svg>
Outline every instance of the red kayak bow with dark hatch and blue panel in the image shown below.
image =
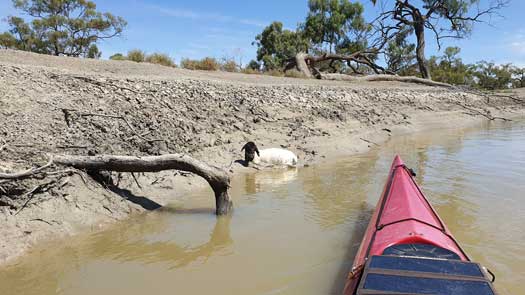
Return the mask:
<svg viewBox="0 0 525 295">
<path fill-rule="evenodd" d="M 396 156 L 344 294 L 497 294 Z"/>
</svg>

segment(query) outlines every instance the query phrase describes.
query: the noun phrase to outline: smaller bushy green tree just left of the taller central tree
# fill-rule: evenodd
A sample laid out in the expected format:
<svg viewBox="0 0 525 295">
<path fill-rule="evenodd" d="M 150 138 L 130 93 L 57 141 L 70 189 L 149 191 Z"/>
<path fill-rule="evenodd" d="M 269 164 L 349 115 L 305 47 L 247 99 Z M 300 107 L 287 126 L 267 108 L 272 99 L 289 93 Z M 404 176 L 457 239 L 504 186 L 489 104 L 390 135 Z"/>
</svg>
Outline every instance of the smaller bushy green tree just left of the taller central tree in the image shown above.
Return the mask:
<svg viewBox="0 0 525 295">
<path fill-rule="evenodd" d="M 255 37 L 257 60 L 265 70 L 276 70 L 297 53 L 308 51 L 308 42 L 300 32 L 284 30 L 281 22 L 273 22 Z"/>
</svg>

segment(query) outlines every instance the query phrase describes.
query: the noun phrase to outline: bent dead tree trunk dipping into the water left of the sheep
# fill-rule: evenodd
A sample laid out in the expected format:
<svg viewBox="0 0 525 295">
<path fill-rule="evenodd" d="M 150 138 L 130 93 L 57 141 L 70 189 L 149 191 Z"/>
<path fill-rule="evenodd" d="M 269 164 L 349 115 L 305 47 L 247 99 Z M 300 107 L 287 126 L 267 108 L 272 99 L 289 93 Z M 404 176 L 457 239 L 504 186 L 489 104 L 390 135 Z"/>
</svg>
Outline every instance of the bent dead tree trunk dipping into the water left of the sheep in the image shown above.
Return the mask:
<svg viewBox="0 0 525 295">
<path fill-rule="evenodd" d="M 228 214 L 232 201 L 228 194 L 230 176 L 223 169 L 210 166 L 187 155 L 169 154 L 162 156 L 54 156 L 53 163 L 92 171 L 116 172 L 159 172 L 162 170 L 182 170 L 204 178 L 215 193 L 215 212 Z"/>
</svg>

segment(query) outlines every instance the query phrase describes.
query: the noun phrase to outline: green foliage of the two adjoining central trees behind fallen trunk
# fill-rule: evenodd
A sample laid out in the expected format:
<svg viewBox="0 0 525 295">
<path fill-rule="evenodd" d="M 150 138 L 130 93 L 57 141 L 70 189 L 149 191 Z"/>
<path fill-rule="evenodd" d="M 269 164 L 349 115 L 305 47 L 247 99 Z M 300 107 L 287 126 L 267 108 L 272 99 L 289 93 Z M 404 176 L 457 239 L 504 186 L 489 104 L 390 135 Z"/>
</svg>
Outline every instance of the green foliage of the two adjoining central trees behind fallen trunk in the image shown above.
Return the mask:
<svg viewBox="0 0 525 295">
<path fill-rule="evenodd" d="M 363 6 L 349 0 L 310 0 L 309 13 L 295 31 L 273 22 L 255 37 L 257 61 L 264 71 L 282 70 L 299 52 L 322 55 L 350 54 L 367 47 L 364 37 L 371 26 L 363 18 Z M 370 60 L 377 56 L 369 55 Z M 256 68 L 255 63 L 252 68 Z M 321 71 L 344 71 L 343 62 L 316 63 Z"/>
</svg>

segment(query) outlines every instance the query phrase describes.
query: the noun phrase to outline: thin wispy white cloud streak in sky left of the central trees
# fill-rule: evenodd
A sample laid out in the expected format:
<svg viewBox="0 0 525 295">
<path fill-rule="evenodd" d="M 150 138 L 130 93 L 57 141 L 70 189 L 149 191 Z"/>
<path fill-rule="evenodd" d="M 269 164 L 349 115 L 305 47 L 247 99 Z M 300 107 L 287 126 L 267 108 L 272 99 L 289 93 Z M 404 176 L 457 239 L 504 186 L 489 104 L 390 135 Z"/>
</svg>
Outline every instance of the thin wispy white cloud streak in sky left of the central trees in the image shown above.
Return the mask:
<svg viewBox="0 0 525 295">
<path fill-rule="evenodd" d="M 156 9 L 157 11 L 159 11 L 160 13 L 164 15 L 177 17 L 177 18 L 238 23 L 242 25 L 255 26 L 255 27 L 264 27 L 266 25 L 265 22 L 260 21 L 260 20 L 248 19 L 248 18 L 237 19 L 232 16 L 223 15 L 220 13 L 196 12 L 196 11 L 188 10 L 188 9 L 167 8 L 167 7 L 161 7 L 161 6 L 151 6 L 151 8 Z"/>
</svg>

